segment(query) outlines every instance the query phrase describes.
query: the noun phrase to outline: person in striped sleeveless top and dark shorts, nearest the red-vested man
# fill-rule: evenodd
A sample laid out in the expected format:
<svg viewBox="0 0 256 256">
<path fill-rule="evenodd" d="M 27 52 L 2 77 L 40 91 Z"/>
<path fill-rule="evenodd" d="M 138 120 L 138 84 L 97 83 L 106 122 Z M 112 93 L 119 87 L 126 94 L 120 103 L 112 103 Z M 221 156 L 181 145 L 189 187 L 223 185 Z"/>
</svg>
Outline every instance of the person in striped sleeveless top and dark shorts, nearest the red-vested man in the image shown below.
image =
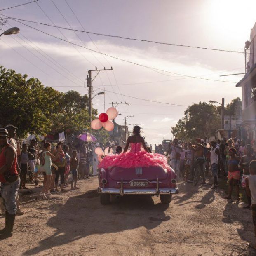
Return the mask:
<svg viewBox="0 0 256 256">
<path fill-rule="evenodd" d="M 28 160 L 33 159 L 34 156 L 28 152 L 28 145 L 23 143 L 22 144 L 22 151 L 21 151 L 21 155 L 19 158 L 19 164 L 20 164 L 20 168 L 21 168 L 21 173 L 19 174 L 20 179 L 21 179 L 21 183 L 19 186 L 19 189 L 27 189 L 26 188 L 26 181 L 27 181 L 27 174 L 28 174 Z"/>
</svg>

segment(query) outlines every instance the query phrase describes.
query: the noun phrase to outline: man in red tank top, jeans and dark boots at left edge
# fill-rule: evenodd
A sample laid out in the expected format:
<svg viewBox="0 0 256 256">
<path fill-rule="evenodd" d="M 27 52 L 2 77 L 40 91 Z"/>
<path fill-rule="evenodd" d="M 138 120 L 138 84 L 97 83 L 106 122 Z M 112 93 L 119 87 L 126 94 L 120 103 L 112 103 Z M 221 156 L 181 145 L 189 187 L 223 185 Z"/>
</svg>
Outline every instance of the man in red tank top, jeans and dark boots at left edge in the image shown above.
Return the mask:
<svg viewBox="0 0 256 256">
<path fill-rule="evenodd" d="M 20 183 L 17 171 L 17 152 L 8 143 L 8 135 L 7 129 L 0 128 L 0 193 L 6 208 L 5 228 L 0 230 L 0 240 L 12 236 L 17 210 L 16 195 Z"/>
</svg>

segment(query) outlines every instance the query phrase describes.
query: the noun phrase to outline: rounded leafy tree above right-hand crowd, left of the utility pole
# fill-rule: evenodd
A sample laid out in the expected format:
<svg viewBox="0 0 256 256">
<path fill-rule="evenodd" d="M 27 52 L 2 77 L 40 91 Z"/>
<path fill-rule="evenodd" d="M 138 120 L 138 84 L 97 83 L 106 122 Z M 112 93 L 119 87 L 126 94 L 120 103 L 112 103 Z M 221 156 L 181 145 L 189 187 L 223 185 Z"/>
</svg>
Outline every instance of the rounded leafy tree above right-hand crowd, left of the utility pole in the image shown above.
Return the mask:
<svg viewBox="0 0 256 256">
<path fill-rule="evenodd" d="M 178 139 L 195 139 L 214 136 L 220 128 L 221 118 L 216 106 L 200 102 L 189 106 L 184 112 L 185 117 L 180 119 L 171 132 Z"/>
</svg>

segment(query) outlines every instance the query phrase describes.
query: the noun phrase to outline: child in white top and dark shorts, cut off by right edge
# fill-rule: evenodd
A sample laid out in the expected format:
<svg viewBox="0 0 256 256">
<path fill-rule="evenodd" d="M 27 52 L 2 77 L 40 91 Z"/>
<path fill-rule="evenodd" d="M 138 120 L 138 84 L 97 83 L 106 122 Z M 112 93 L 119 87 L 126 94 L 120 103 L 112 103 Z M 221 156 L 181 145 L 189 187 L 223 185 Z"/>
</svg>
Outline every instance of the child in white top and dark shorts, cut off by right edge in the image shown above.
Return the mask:
<svg viewBox="0 0 256 256">
<path fill-rule="evenodd" d="M 250 162 L 250 176 L 245 179 L 245 189 L 251 197 L 252 222 L 254 224 L 254 235 L 256 238 L 256 160 Z M 250 247 L 256 249 L 256 244 L 249 243 Z"/>
</svg>

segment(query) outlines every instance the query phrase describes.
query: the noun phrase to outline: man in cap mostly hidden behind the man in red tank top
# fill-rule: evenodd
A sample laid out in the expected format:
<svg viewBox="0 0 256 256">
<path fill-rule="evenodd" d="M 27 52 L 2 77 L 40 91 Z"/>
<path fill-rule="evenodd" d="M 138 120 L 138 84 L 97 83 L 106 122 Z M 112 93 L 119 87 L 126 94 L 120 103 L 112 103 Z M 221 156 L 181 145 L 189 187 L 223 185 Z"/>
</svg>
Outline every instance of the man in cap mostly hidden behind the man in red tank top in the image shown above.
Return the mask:
<svg viewBox="0 0 256 256">
<path fill-rule="evenodd" d="M 7 132 L 9 134 L 9 139 L 8 139 L 8 143 L 13 146 L 17 152 L 17 156 L 19 157 L 19 155 L 21 154 L 21 149 L 19 146 L 19 142 L 17 143 L 17 141 L 14 139 L 16 137 L 16 129 L 18 129 L 17 127 L 15 127 L 12 124 L 8 124 L 5 129 L 7 129 Z M 17 164 L 17 170 L 20 173 L 20 168 L 19 165 Z M 16 195 L 16 205 L 17 205 L 17 215 L 23 215 L 24 212 L 21 211 L 21 207 L 19 205 L 19 194 L 17 193 Z"/>
</svg>

